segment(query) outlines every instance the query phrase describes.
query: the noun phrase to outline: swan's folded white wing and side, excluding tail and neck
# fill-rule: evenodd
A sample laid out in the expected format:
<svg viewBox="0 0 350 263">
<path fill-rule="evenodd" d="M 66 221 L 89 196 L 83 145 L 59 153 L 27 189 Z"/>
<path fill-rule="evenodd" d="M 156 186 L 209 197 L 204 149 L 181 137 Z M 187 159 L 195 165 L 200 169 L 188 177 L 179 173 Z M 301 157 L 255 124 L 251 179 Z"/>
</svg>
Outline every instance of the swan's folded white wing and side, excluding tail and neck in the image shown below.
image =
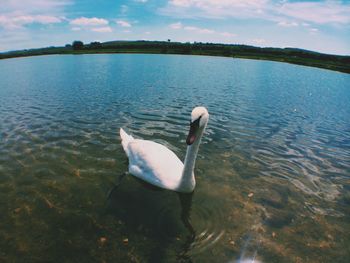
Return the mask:
<svg viewBox="0 0 350 263">
<path fill-rule="evenodd" d="M 171 150 L 156 142 L 133 140 L 128 144 L 129 172 L 153 185 L 176 189 L 183 163 Z"/>
</svg>

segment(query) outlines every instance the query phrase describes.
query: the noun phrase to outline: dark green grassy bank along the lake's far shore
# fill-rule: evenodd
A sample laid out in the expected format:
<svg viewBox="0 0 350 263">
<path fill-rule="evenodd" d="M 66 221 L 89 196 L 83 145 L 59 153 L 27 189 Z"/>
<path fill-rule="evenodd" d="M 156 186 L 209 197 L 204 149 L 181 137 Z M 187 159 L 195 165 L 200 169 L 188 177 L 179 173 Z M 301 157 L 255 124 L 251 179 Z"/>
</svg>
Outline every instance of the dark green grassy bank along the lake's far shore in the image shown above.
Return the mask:
<svg viewBox="0 0 350 263">
<path fill-rule="evenodd" d="M 164 41 L 93 42 L 81 46 L 66 45 L 65 47 L 29 49 L 0 53 L 0 59 L 52 54 L 98 53 L 186 54 L 263 59 L 350 73 L 350 56 L 328 55 L 295 48 L 259 48 L 247 45 Z"/>
</svg>

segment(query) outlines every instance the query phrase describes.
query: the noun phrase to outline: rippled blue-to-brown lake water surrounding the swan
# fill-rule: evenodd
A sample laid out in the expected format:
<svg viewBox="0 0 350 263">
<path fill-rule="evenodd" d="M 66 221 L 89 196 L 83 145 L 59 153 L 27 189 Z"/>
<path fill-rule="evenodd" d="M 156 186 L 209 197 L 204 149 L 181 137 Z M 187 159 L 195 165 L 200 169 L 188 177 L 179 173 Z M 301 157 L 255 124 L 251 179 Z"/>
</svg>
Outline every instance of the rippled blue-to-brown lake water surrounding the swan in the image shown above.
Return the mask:
<svg viewBox="0 0 350 263">
<path fill-rule="evenodd" d="M 192 196 L 121 176 L 120 127 L 183 159 L 198 105 L 210 120 Z M 349 262 L 349 229 L 350 75 L 177 55 L 0 60 L 0 262 Z"/>
</svg>

